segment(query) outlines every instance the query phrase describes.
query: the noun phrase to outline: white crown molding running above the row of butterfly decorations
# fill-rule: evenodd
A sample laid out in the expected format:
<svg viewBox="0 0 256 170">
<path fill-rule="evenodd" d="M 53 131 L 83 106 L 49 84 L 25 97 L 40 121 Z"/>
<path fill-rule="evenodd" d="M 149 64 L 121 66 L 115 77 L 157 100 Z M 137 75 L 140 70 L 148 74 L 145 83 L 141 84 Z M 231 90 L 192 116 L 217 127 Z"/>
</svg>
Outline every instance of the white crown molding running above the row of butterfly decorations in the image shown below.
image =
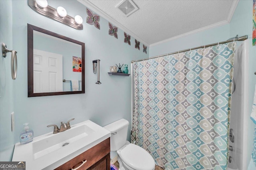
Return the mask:
<svg viewBox="0 0 256 170">
<path fill-rule="evenodd" d="M 118 22 L 117 20 L 115 20 L 114 18 L 112 18 L 111 16 L 106 14 L 106 12 L 102 11 L 100 8 L 98 8 L 97 6 L 95 6 L 94 4 L 89 2 L 88 0 L 77 0 L 77 1 L 80 2 L 81 4 L 83 4 L 84 6 L 86 6 L 87 8 L 90 8 L 90 10 L 93 10 L 98 15 L 105 18 L 106 20 L 108 20 L 110 23 L 112 23 L 116 27 L 122 29 L 124 32 L 128 33 L 129 35 L 131 35 L 132 37 L 134 37 L 135 39 L 140 41 L 140 43 L 143 43 L 144 45 L 149 47 L 149 43 L 146 43 L 146 41 L 143 41 L 138 35 L 134 34 L 130 29 L 127 29 L 120 22 Z"/>
</svg>

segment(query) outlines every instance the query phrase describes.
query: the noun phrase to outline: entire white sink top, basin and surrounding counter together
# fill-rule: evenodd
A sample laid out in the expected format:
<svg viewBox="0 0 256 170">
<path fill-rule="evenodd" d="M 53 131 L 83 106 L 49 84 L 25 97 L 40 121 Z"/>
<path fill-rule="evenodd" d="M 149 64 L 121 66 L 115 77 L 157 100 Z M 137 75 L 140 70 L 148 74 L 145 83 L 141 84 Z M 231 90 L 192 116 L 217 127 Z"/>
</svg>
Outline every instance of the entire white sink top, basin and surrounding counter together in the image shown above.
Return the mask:
<svg viewBox="0 0 256 170">
<path fill-rule="evenodd" d="M 25 145 L 16 143 L 12 161 L 26 161 L 26 170 L 55 169 L 110 136 L 110 131 L 84 121 L 60 133 L 35 137 Z"/>
</svg>

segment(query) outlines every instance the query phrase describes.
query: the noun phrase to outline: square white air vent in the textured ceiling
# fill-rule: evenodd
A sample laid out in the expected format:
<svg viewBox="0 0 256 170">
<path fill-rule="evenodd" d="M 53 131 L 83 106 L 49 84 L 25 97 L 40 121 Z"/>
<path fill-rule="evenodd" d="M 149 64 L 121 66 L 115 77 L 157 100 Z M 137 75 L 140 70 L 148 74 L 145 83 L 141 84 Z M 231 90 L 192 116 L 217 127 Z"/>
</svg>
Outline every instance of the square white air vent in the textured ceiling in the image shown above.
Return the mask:
<svg viewBox="0 0 256 170">
<path fill-rule="evenodd" d="M 122 0 L 117 6 L 119 10 L 121 10 L 124 13 L 124 16 L 128 17 L 132 13 L 134 13 L 136 10 L 138 10 L 138 7 L 132 0 Z"/>
</svg>

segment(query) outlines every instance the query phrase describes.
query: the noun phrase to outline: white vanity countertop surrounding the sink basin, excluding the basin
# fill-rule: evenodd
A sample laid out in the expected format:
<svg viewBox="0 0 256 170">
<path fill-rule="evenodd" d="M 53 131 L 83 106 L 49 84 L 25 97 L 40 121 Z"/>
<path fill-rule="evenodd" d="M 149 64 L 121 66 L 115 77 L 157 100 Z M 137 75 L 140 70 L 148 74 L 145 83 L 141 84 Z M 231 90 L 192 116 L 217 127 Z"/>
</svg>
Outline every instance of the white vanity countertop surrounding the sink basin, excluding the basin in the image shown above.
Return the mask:
<svg viewBox="0 0 256 170">
<path fill-rule="evenodd" d="M 51 133 L 46 133 L 44 135 L 35 137 L 34 140 L 28 144 L 20 145 L 20 143 L 15 144 L 14 153 L 12 156 L 12 161 L 25 161 L 26 170 L 53 170 L 60 165 L 68 162 L 72 158 L 78 156 L 84 151 L 94 147 L 98 143 L 108 139 L 111 136 L 110 131 L 104 129 L 103 127 L 97 125 L 96 123 L 88 120 L 76 125 L 72 125 L 71 129 L 81 125 L 87 125 L 92 128 L 94 132 L 90 133 L 88 137 L 79 139 L 72 144 L 61 147 L 60 149 L 54 150 L 48 154 L 35 158 L 33 153 L 33 143 L 40 141 L 45 138 L 52 137 Z M 66 130 L 69 131 L 70 129 Z M 64 133 L 60 132 L 60 133 Z"/>
</svg>

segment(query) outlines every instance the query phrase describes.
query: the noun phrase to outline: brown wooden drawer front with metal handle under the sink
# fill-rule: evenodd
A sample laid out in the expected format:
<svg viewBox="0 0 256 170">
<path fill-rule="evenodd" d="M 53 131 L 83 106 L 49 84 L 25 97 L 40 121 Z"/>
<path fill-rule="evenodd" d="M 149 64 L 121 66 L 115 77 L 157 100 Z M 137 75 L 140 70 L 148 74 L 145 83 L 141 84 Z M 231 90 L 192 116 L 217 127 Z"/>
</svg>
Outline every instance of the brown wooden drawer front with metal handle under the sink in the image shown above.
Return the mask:
<svg viewBox="0 0 256 170">
<path fill-rule="evenodd" d="M 90 168 L 93 164 L 101 160 L 110 152 L 110 138 L 102 141 L 98 145 L 86 150 L 82 154 L 76 156 L 75 158 L 69 160 L 65 164 L 62 164 L 55 170 L 71 170 L 72 168 L 77 168 L 86 161 L 78 170 L 86 170 Z"/>
</svg>

